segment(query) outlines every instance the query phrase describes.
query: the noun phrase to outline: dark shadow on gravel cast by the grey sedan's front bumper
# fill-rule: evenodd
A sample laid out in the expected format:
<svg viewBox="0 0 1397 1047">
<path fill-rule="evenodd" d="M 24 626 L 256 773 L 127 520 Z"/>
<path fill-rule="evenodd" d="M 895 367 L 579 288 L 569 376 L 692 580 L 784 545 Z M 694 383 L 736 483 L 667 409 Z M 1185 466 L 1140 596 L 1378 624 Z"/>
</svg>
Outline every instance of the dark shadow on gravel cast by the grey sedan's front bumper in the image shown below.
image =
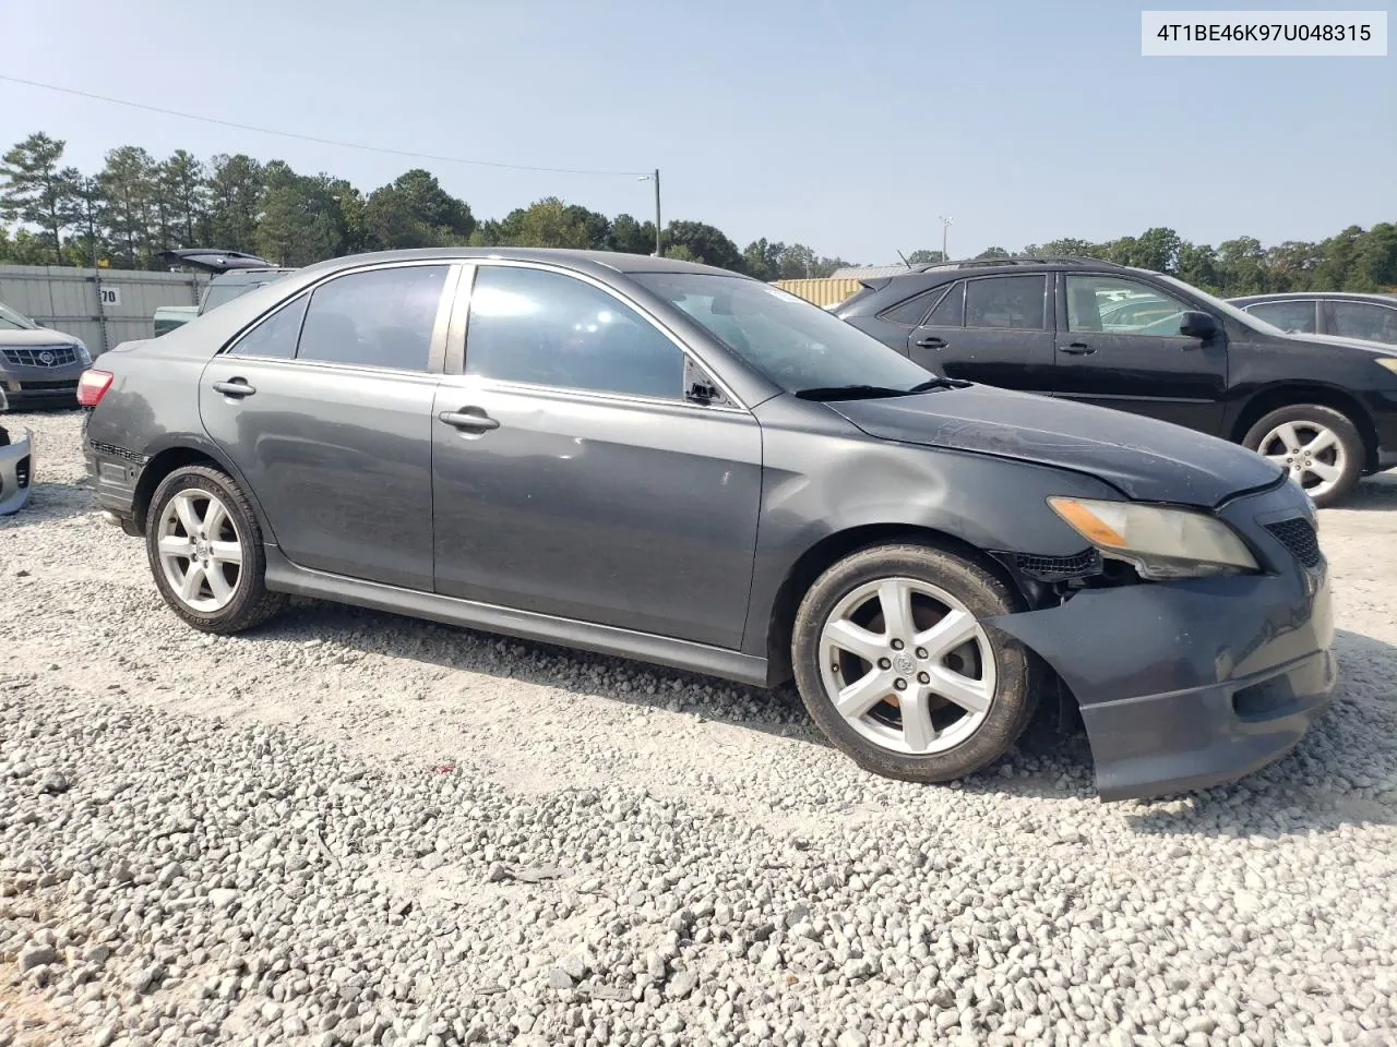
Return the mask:
<svg viewBox="0 0 1397 1047">
<path fill-rule="evenodd" d="M 1143 805 L 1130 826 L 1280 838 L 1397 825 L 1397 646 L 1340 630 L 1336 651 L 1334 704 L 1292 752 L 1234 785 Z"/>
</svg>

